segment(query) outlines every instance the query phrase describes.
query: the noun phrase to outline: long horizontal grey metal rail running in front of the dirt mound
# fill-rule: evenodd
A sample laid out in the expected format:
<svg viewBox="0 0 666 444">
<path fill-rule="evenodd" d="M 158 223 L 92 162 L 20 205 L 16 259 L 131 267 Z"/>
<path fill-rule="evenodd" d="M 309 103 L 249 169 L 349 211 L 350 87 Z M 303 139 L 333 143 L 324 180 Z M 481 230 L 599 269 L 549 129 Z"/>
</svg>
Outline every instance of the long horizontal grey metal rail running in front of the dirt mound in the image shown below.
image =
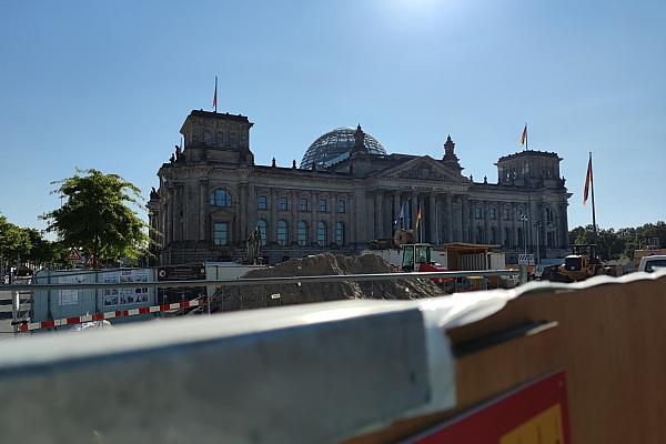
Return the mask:
<svg viewBox="0 0 666 444">
<path fill-rule="evenodd" d="M 226 280 L 201 280 L 201 281 L 161 281 L 161 282 L 124 282 L 124 283 L 77 283 L 77 284 L 22 284 L 2 285 L 4 291 L 34 291 L 34 290 L 87 290 L 87 289 L 135 289 L 148 287 L 198 287 L 206 285 L 246 286 L 270 285 L 290 283 L 325 283 L 339 281 L 395 281 L 405 279 L 430 279 L 430 278 L 472 278 L 472 276 L 515 276 L 517 270 L 475 270 L 475 271 L 438 271 L 427 273 L 379 273 L 379 274 L 330 274 L 319 276 L 289 276 L 289 278 L 252 278 L 252 279 L 226 279 Z"/>
</svg>

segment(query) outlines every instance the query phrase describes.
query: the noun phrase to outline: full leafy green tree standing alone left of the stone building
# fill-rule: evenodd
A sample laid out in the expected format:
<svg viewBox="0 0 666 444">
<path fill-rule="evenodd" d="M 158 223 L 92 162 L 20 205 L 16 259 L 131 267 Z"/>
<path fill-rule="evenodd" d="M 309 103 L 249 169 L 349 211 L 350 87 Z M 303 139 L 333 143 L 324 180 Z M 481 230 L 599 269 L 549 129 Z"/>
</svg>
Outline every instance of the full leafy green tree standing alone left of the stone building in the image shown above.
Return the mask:
<svg viewBox="0 0 666 444">
<path fill-rule="evenodd" d="M 148 251 L 148 224 L 129 206 L 141 205 L 141 190 L 134 184 L 98 170 L 77 170 L 53 184 L 58 188 L 52 193 L 67 202 L 41 218 L 62 245 L 92 254 L 95 264 L 135 260 Z"/>
</svg>

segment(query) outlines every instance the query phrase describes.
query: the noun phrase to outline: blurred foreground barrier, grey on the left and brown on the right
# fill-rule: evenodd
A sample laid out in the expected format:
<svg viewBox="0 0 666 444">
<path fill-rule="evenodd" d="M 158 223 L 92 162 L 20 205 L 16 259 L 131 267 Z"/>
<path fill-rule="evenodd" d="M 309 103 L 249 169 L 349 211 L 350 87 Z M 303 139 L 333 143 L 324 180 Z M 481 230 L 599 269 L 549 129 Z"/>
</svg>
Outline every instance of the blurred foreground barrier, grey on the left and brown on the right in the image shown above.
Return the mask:
<svg viewBox="0 0 666 444">
<path fill-rule="evenodd" d="M 658 442 L 665 285 L 666 272 L 599 276 L 19 339 L 0 344 L 0 430 L 7 442 L 386 442 L 562 369 L 581 393 L 574 442 L 627 442 L 620 427 Z M 531 320 L 557 326 L 480 341 Z M 604 366 L 613 377 L 593 381 Z M 616 417 L 630 400 L 655 410 Z"/>
</svg>

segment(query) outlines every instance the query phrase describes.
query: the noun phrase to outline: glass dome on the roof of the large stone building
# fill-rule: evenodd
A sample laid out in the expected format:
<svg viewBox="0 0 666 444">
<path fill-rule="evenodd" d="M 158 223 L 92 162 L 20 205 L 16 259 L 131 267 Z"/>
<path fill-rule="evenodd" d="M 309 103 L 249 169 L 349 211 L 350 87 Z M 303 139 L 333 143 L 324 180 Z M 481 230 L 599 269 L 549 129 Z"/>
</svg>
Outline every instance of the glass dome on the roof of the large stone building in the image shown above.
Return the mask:
<svg viewBox="0 0 666 444">
<path fill-rule="evenodd" d="M 323 170 L 349 158 L 354 148 L 355 133 L 353 128 L 336 128 L 321 135 L 303 154 L 301 169 L 310 170 L 316 163 L 316 169 Z M 384 147 L 367 133 L 363 133 L 363 144 L 371 154 L 386 154 Z"/>
</svg>

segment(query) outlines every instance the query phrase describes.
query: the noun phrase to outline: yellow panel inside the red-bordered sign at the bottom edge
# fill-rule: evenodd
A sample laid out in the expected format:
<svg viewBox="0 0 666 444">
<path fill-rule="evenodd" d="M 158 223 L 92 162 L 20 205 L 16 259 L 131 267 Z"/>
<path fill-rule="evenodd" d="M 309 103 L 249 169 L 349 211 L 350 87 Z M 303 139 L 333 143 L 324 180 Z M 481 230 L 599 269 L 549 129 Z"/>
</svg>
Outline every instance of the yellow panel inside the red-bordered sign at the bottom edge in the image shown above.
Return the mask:
<svg viewBox="0 0 666 444">
<path fill-rule="evenodd" d="M 559 404 L 543 411 L 500 438 L 500 444 L 563 444 Z"/>
</svg>

